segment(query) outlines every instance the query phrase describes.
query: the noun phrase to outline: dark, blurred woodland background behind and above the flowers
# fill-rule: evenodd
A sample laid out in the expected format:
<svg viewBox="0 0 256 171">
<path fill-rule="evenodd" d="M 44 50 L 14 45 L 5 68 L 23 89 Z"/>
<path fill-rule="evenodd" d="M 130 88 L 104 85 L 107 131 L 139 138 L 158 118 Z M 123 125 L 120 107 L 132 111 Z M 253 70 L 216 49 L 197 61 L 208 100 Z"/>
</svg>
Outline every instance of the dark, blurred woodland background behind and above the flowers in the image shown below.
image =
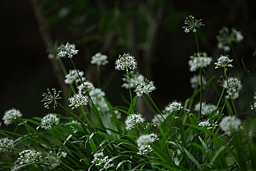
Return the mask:
<svg viewBox="0 0 256 171">
<path fill-rule="evenodd" d="M 235 44 L 237 56 L 241 59 L 244 55 L 246 66 L 256 74 L 256 57 L 252 56 L 256 48 L 254 0 L 1 0 L 0 115 L 17 107 L 24 117 L 41 117 L 51 111 L 43 108 L 41 93 L 47 87 L 61 89 L 39 32 L 33 1 L 43 5 L 41 15 L 47 19 L 52 40 L 77 44 L 79 54 L 73 59 L 95 85 L 96 66 L 90 64 L 91 57 L 99 51 L 109 57 L 109 64 L 101 67 L 101 82 L 113 105 L 124 105 L 119 93 L 129 98 L 128 91 L 120 87 L 123 72 L 114 69 L 123 52 L 136 56 L 139 72 L 155 82 L 158 89 L 151 95 L 161 109 L 175 99 L 184 102 L 190 97 L 194 73 L 189 72 L 187 62 L 196 52 L 196 43 L 194 35 L 182 29 L 189 15 L 203 19 L 205 26 L 197 32 L 199 48 L 214 62 L 223 53 L 217 49 L 218 30 L 223 26 L 241 30 L 244 40 Z M 232 57 L 231 51 L 228 54 Z M 63 62 L 73 69 L 70 60 Z M 215 70 L 214 62 L 207 70 L 210 76 L 217 76 L 214 83 L 218 85 L 222 70 Z M 229 71 L 241 78 L 237 67 Z M 256 80 L 246 78 L 255 92 Z M 204 90 L 203 99 L 217 103 L 211 87 Z M 237 104 L 240 110 L 249 109 L 245 91 Z"/>
</svg>

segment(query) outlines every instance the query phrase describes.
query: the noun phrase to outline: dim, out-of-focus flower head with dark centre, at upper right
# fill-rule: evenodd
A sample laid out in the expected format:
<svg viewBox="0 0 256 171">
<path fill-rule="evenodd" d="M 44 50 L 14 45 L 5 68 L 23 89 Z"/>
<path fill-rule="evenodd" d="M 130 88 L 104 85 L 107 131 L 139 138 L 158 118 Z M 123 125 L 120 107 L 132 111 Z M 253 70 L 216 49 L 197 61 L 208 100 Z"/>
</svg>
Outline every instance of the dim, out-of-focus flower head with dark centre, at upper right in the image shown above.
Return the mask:
<svg viewBox="0 0 256 171">
<path fill-rule="evenodd" d="M 223 49 L 225 52 L 230 51 L 232 43 L 240 43 L 243 40 L 243 35 L 235 28 L 223 27 L 217 35 L 218 48 Z"/>
</svg>

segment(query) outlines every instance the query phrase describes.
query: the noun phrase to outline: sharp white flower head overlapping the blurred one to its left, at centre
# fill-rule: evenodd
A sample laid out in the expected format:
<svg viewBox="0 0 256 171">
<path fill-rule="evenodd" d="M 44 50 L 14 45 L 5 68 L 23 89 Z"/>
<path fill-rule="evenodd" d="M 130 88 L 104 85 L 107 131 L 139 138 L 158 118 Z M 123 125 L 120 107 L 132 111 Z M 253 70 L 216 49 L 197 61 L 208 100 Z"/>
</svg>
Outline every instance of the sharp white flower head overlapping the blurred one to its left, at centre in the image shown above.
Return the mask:
<svg viewBox="0 0 256 171">
<path fill-rule="evenodd" d="M 157 89 L 157 87 L 154 85 L 154 82 L 145 79 L 142 83 L 136 86 L 134 92 L 136 92 L 138 97 L 141 97 L 143 94 L 149 94 L 155 89 Z"/>
</svg>

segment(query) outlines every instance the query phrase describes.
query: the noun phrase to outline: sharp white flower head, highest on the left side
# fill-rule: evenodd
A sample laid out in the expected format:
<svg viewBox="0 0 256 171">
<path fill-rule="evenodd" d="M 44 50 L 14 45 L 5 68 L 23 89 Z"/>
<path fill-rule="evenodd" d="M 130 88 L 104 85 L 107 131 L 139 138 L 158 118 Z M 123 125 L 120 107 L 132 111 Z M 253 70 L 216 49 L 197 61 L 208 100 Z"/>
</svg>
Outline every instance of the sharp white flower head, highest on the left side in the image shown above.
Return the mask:
<svg viewBox="0 0 256 171">
<path fill-rule="evenodd" d="M 75 44 L 70 44 L 70 43 L 66 43 L 61 44 L 58 47 L 59 53 L 57 54 L 59 57 L 62 58 L 73 58 L 73 55 L 78 54 L 78 50 L 76 50 L 76 45 Z"/>
</svg>

